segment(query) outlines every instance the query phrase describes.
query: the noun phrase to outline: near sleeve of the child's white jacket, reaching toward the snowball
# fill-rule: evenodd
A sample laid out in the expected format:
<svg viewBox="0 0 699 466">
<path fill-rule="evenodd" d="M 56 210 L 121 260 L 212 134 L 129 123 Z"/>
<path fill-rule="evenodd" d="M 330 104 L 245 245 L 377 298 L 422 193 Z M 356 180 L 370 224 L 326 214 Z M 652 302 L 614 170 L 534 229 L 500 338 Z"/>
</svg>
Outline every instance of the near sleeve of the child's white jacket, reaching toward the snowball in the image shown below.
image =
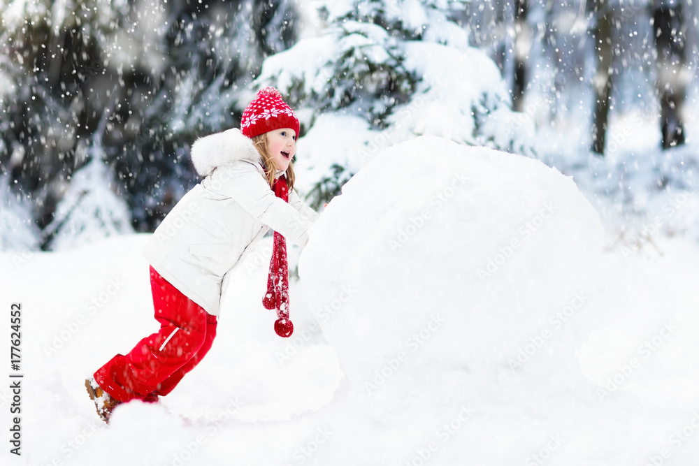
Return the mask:
<svg viewBox="0 0 699 466">
<path fill-rule="evenodd" d="M 275 196 L 254 164 L 236 161 L 219 167 L 207 177 L 204 187 L 233 198 L 253 217 L 296 245 L 305 246 L 308 242 L 312 220 Z"/>
</svg>

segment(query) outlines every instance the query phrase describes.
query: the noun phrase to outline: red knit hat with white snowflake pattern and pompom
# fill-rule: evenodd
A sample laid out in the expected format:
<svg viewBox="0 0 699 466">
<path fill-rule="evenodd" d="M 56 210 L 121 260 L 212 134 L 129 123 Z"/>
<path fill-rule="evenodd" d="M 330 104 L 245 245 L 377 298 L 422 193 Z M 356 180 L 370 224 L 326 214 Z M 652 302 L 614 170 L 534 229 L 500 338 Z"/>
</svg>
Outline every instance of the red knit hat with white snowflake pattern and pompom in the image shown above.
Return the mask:
<svg viewBox="0 0 699 466">
<path fill-rule="evenodd" d="M 294 110 L 282 100 L 282 94 L 274 87 L 265 87 L 247 105 L 240 120 L 240 130 L 248 138 L 267 131 L 291 128 L 298 136 L 298 118 Z"/>
</svg>

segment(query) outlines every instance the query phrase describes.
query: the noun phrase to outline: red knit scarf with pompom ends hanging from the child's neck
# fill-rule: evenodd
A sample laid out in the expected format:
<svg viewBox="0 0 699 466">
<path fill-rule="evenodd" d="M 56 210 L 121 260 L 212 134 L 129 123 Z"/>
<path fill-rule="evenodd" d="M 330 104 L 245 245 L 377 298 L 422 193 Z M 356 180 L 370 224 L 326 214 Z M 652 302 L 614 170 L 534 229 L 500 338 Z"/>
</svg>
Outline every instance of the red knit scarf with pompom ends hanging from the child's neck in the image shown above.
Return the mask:
<svg viewBox="0 0 699 466">
<path fill-rule="evenodd" d="M 280 176 L 272 187 L 274 194 L 284 202 L 289 202 L 287 177 Z M 267 277 L 267 294 L 262 299 L 262 305 L 268 310 L 277 311 L 277 321 L 274 331 L 280 337 L 290 337 L 294 333 L 294 324 L 289 320 L 289 263 L 287 262 L 287 240 L 278 232 L 274 232 L 272 260 L 269 262 Z"/>
</svg>

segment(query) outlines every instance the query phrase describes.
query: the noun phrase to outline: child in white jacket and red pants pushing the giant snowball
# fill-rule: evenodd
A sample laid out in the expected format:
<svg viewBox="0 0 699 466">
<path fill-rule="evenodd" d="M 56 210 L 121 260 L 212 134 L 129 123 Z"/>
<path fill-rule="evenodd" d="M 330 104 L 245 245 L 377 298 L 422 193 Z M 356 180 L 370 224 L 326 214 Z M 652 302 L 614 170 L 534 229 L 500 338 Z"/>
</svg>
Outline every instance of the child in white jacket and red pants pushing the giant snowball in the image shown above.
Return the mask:
<svg viewBox="0 0 699 466">
<path fill-rule="evenodd" d="M 167 395 L 201 361 L 216 336 L 231 270 L 270 228 L 274 247 L 263 304 L 277 310 L 277 333 L 291 335 L 284 238 L 304 246 L 318 217 L 293 191 L 298 119 L 278 90 L 267 87 L 247 106 L 240 126 L 192 145 L 194 168 L 204 179 L 143 248 L 161 327 L 85 381 L 105 422 L 122 402 Z"/>
</svg>

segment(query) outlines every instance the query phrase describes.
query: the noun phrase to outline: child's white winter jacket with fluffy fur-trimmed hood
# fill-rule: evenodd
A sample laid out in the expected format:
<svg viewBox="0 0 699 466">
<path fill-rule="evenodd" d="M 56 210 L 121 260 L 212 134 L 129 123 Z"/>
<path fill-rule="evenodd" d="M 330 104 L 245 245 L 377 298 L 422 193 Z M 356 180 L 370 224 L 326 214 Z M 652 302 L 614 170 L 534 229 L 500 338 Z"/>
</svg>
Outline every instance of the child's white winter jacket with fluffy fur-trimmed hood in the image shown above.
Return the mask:
<svg viewBox="0 0 699 466">
<path fill-rule="evenodd" d="M 255 243 L 273 228 L 304 246 L 318 214 L 295 191 L 289 203 L 275 196 L 259 152 L 239 129 L 196 140 L 192 162 L 205 178 L 173 207 L 143 255 L 187 298 L 217 316 L 229 272 Z"/>
</svg>

